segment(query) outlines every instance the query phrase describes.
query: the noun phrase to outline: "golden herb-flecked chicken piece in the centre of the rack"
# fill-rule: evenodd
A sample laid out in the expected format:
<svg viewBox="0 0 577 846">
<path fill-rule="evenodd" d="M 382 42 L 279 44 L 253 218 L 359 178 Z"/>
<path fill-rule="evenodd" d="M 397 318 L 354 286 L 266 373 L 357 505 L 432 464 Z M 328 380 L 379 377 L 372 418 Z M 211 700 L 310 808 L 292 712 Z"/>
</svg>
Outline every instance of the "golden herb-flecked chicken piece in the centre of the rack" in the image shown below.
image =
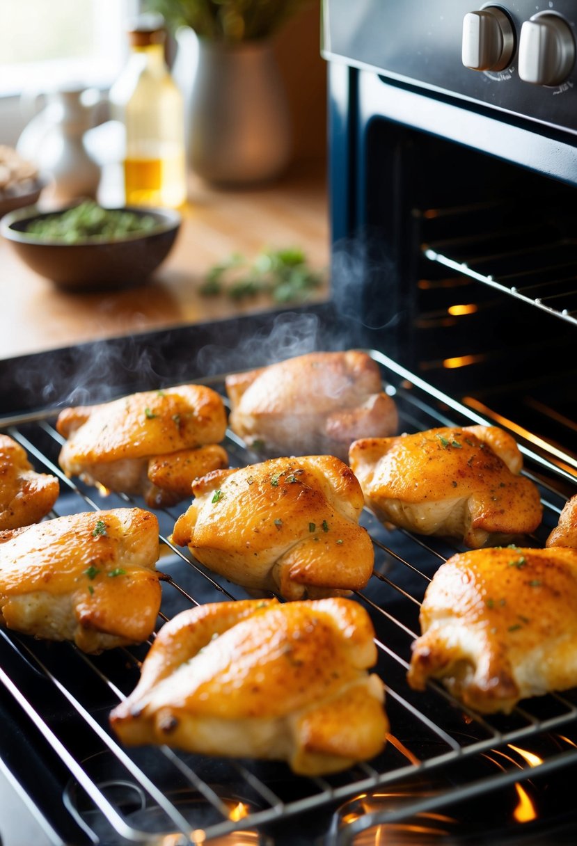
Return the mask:
<svg viewBox="0 0 577 846">
<path fill-rule="evenodd" d="M 269 459 L 215 470 L 193 485 L 195 500 L 173 541 L 250 591 L 286 599 L 364 587 L 371 539 L 359 525 L 359 482 L 333 456 Z"/>
</svg>

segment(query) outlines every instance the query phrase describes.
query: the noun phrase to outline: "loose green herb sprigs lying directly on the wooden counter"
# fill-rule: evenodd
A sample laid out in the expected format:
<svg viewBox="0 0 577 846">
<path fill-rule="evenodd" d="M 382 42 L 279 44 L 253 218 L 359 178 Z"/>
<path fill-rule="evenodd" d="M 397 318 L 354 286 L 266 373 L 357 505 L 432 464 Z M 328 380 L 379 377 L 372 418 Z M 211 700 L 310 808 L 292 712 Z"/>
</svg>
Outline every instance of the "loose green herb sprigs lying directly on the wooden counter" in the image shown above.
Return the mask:
<svg viewBox="0 0 577 846">
<path fill-rule="evenodd" d="M 267 294 L 275 302 L 307 299 L 310 291 L 321 288 L 325 277 L 313 270 L 303 250 L 262 250 L 252 262 L 234 253 L 206 273 L 200 292 L 204 296 L 226 294 L 230 299 L 247 299 Z"/>
</svg>

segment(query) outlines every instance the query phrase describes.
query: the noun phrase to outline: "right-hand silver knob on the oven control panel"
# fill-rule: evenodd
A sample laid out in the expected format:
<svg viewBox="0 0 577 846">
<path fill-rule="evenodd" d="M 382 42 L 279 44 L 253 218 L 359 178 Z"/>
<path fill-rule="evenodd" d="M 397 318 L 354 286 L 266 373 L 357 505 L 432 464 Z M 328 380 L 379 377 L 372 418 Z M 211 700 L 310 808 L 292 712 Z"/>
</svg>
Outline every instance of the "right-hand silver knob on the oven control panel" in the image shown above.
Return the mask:
<svg viewBox="0 0 577 846">
<path fill-rule="evenodd" d="M 525 20 L 519 36 L 519 77 L 534 85 L 561 85 L 575 63 L 571 27 L 552 12 Z"/>
</svg>

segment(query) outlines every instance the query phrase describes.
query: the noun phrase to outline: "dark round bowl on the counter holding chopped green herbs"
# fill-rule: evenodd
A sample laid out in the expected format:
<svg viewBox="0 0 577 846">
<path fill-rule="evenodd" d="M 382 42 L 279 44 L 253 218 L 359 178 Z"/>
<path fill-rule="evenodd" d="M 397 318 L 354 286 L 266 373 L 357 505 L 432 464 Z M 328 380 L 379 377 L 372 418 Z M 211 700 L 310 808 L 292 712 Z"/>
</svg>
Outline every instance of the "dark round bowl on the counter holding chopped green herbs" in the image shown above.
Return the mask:
<svg viewBox="0 0 577 846">
<path fill-rule="evenodd" d="M 124 210 L 153 217 L 157 226 L 143 233 L 131 233 L 124 239 L 87 239 L 63 244 L 26 233 L 33 220 L 58 213 L 41 213 L 30 207 L 3 217 L 0 233 L 32 270 L 52 279 L 60 288 L 71 291 L 131 288 L 145 282 L 167 257 L 179 232 L 180 215 L 168 209 L 125 206 Z"/>
</svg>

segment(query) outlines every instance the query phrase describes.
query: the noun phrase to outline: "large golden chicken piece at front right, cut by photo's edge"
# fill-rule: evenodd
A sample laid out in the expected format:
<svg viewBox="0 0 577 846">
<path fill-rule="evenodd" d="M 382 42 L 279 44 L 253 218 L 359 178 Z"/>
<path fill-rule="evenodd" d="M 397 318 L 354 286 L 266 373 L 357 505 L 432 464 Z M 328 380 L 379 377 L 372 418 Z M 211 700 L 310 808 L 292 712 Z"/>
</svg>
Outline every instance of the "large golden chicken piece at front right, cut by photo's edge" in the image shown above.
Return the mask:
<svg viewBox="0 0 577 846">
<path fill-rule="evenodd" d="M 420 610 L 409 684 L 443 683 L 476 711 L 577 684 L 577 551 L 498 547 L 437 570 Z"/>
</svg>

